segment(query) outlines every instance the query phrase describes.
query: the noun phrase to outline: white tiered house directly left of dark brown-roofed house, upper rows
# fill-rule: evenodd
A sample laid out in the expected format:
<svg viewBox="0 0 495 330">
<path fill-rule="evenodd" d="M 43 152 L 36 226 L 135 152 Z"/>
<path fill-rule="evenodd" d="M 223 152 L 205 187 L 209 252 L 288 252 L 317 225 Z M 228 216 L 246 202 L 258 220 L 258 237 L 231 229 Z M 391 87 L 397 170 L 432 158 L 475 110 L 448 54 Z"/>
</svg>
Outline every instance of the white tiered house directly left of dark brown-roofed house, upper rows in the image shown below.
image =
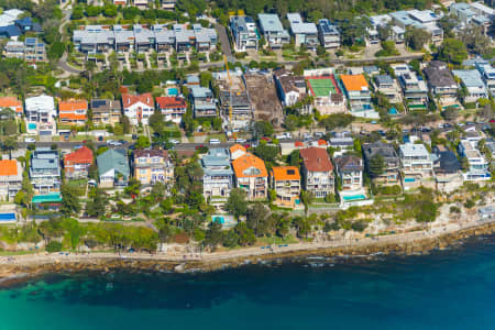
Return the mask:
<svg viewBox="0 0 495 330">
<path fill-rule="evenodd" d="M 398 77 L 408 110 L 426 110 L 428 88 L 425 80 L 411 72 L 407 64 L 393 65 L 392 68 L 395 76 Z"/>
</svg>

